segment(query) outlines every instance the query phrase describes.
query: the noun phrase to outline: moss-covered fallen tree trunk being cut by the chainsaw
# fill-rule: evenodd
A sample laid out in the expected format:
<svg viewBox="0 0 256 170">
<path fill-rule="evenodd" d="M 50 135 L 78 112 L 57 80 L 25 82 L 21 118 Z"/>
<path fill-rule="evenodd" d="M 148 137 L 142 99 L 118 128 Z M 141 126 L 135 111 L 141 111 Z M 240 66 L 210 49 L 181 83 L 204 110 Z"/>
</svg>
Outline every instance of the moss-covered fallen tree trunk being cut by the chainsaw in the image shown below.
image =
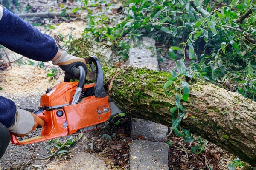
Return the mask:
<svg viewBox="0 0 256 170">
<path fill-rule="evenodd" d="M 170 73 L 134 67 L 103 70 L 105 87 L 121 110 L 172 125 L 169 110 L 175 106 L 174 85 L 169 88 L 171 96 L 163 92 Z M 181 126 L 256 166 L 256 102 L 201 79 L 190 79 L 189 85 L 189 100 L 182 103 L 188 117 Z"/>
</svg>

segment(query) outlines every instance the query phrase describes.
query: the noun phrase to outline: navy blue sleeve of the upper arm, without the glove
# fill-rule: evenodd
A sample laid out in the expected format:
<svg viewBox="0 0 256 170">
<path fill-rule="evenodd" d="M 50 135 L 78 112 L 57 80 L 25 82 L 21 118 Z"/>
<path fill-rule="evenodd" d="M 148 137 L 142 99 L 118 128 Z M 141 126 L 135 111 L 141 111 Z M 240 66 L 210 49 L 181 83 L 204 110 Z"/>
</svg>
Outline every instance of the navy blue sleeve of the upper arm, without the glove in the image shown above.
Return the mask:
<svg viewBox="0 0 256 170">
<path fill-rule="evenodd" d="M 36 61 L 47 62 L 58 52 L 58 46 L 52 37 L 22 20 L 3 8 L 0 20 L 0 44 Z"/>
</svg>

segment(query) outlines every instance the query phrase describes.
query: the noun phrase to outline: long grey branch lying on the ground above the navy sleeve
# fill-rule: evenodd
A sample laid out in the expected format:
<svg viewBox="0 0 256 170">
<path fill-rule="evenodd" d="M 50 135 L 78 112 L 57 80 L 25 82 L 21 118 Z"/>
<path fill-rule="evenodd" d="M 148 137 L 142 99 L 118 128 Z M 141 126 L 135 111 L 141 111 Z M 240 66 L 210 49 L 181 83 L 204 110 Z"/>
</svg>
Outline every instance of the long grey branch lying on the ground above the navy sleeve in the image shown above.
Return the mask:
<svg viewBox="0 0 256 170">
<path fill-rule="evenodd" d="M 19 17 L 40 17 L 40 18 L 54 18 L 55 16 L 61 16 L 62 11 L 60 12 L 36 12 L 36 13 L 25 13 L 25 14 L 17 14 Z M 66 15 L 70 17 L 80 17 L 77 13 L 73 13 L 72 11 L 66 11 Z"/>
</svg>

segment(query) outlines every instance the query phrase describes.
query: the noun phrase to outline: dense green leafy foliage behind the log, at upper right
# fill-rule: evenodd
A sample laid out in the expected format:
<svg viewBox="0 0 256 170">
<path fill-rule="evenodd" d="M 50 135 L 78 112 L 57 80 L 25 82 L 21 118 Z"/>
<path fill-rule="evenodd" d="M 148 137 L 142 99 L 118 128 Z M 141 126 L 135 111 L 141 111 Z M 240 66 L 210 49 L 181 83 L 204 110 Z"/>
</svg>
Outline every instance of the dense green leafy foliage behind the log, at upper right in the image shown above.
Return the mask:
<svg viewBox="0 0 256 170">
<path fill-rule="evenodd" d="M 255 5 L 251 0 L 130 0 L 116 25 L 90 13 L 84 37 L 107 43 L 119 58 L 128 58 L 128 41 L 153 37 L 159 58 L 191 59 L 192 74 L 255 100 Z"/>
</svg>

